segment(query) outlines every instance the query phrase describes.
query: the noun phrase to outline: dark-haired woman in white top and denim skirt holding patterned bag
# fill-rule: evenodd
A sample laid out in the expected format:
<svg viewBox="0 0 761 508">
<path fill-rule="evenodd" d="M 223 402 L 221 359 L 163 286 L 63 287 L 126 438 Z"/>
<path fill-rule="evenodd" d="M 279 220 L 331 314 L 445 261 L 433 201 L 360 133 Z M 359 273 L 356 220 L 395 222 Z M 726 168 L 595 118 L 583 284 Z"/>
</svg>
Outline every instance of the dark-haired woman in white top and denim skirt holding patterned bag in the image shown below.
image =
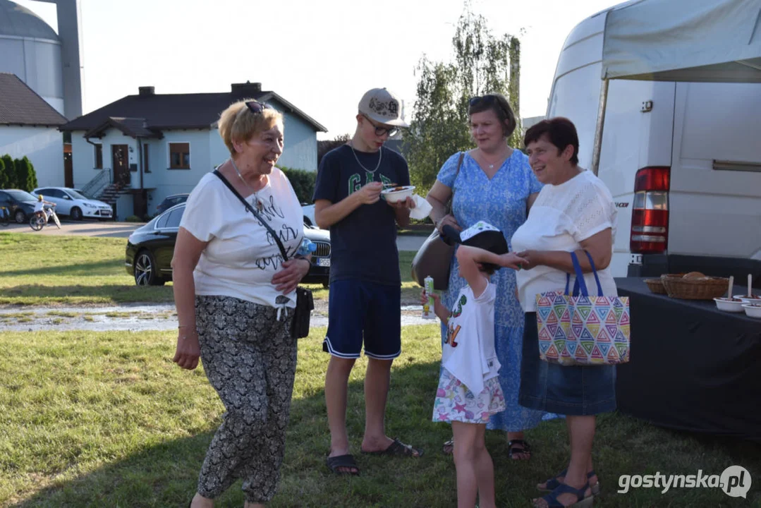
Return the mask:
<svg viewBox="0 0 761 508">
<path fill-rule="evenodd" d="M 514 233 L 512 247 L 528 261 L 517 272 L 518 299 L 525 312 L 519 403 L 530 409 L 565 414 L 571 441 L 568 468 L 537 485 L 549 491 L 536 506 L 591 502 L 600 483 L 592 468 L 595 415 L 616 408 L 615 366 L 560 366 L 540 359 L 536 296 L 565 288 L 577 254 L 587 287 L 597 288 L 587 251 L 594 260 L 605 296 L 617 296 L 610 273 L 616 208 L 605 184 L 578 166 L 578 135 L 570 120 L 552 118 L 528 129 L 529 163 L 545 184 L 528 219 Z M 572 275 L 572 279 L 575 276 Z M 572 281 L 573 283 L 573 281 Z"/>
</svg>

